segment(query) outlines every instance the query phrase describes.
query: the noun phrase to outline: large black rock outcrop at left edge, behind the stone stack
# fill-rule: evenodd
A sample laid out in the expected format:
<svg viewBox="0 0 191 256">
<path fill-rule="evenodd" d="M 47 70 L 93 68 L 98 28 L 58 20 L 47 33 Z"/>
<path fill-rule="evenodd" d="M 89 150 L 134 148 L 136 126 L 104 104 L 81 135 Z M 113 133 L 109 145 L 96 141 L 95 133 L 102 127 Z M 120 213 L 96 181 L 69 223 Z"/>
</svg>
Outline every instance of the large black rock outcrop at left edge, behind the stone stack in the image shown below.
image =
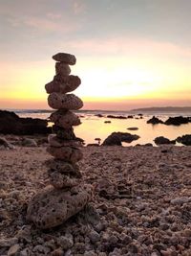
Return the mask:
<svg viewBox="0 0 191 256">
<path fill-rule="evenodd" d="M 32 135 L 47 134 L 52 132 L 52 128 L 48 128 L 48 121 L 42 119 L 20 118 L 14 112 L 0 110 L 0 133 Z"/>
</svg>

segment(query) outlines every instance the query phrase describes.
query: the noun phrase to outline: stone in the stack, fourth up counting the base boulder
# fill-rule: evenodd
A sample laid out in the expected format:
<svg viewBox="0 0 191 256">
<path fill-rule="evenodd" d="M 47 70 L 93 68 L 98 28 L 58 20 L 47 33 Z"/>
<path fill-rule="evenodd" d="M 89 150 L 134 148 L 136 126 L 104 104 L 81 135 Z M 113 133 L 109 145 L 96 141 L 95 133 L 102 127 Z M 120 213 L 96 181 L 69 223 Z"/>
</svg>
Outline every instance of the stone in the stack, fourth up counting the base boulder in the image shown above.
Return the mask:
<svg viewBox="0 0 191 256">
<path fill-rule="evenodd" d="M 76 163 L 82 159 L 83 154 L 77 148 L 72 147 L 52 147 L 49 146 L 47 151 L 57 159 L 63 159 L 66 162 Z"/>
</svg>

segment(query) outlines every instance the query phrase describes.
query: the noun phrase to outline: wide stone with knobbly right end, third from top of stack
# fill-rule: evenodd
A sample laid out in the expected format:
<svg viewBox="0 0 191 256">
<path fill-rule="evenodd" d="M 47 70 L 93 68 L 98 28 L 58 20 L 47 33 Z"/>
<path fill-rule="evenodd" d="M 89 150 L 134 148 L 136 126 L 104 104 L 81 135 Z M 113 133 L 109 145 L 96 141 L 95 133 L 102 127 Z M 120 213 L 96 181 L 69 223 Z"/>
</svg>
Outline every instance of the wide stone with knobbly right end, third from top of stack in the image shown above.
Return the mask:
<svg viewBox="0 0 191 256">
<path fill-rule="evenodd" d="M 68 76 L 64 77 L 61 74 L 54 76 L 53 81 L 48 82 L 45 84 L 45 89 L 47 93 L 52 92 L 60 92 L 60 93 L 67 93 L 74 91 L 81 80 L 77 76 Z"/>
</svg>

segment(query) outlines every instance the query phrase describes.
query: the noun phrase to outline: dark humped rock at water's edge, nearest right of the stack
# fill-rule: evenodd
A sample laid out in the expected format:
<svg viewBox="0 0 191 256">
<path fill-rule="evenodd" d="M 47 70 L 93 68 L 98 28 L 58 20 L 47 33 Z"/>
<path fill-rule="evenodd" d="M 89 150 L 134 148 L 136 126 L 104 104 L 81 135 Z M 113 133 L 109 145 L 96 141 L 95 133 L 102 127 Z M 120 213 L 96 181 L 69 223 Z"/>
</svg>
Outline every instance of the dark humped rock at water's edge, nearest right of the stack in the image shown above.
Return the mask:
<svg viewBox="0 0 191 256">
<path fill-rule="evenodd" d="M 102 143 L 102 146 L 121 146 L 121 142 L 131 143 L 134 140 L 138 140 L 137 134 L 131 134 L 128 132 L 112 132 Z"/>
</svg>

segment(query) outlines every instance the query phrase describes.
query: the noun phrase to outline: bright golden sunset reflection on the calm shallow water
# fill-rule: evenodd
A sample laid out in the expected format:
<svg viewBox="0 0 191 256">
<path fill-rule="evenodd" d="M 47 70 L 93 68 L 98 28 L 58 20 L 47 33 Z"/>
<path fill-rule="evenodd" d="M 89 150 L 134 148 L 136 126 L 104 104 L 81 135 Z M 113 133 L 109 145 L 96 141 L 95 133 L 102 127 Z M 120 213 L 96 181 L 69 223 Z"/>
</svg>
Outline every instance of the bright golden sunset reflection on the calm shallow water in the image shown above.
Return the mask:
<svg viewBox="0 0 191 256">
<path fill-rule="evenodd" d="M 32 118 L 48 118 L 50 114 L 47 113 L 28 113 L 19 114 L 22 117 Z M 133 141 L 130 144 L 123 144 L 124 146 L 135 146 L 137 144 L 153 143 L 153 140 L 158 136 L 164 136 L 170 140 L 176 139 L 178 136 L 191 133 L 191 123 L 187 125 L 181 125 L 180 127 L 165 126 L 162 124 L 151 125 L 146 124 L 146 121 L 151 116 L 144 116 L 143 119 L 108 119 L 105 117 L 96 117 L 94 115 L 84 115 L 81 118 L 82 124 L 74 128 L 75 135 L 84 139 L 86 144 L 97 143 L 95 138 L 100 138 L 101 142 L 114 131 L 130 132 L 132 134 L 138 134 L 140 138 L 137 141 Z M 159 117 L 166 120 L 168 117 Z M 111 124 L 105 124 L 104 121 L 111 121 Z M 138 130 L 128 130 L 127 128 L 137 127 Z"/>
</svg>

